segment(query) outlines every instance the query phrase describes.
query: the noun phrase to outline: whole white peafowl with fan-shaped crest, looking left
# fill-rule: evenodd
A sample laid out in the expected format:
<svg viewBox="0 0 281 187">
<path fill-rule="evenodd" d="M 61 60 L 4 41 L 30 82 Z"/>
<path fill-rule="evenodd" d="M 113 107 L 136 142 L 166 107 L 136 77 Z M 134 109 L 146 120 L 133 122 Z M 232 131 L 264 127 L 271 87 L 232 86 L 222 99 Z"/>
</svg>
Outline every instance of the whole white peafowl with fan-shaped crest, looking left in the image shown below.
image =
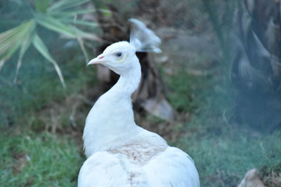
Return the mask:
<svg viewBox="0 0 281 187">
<path fill-rule="evenodd" d="M 78 187 L 200 186 L 195 162 L 187 153 L 135 123 L 131 95 L 141 81 L 136 52 L 160 53 L 161 39 L 143 22 L 129 21 L 129 42 L 111 44 L 88 63 L 103 64 L 119 74 L 119 80 L 98 98 L 86 118 L 86 161 Z"/>
</svg>

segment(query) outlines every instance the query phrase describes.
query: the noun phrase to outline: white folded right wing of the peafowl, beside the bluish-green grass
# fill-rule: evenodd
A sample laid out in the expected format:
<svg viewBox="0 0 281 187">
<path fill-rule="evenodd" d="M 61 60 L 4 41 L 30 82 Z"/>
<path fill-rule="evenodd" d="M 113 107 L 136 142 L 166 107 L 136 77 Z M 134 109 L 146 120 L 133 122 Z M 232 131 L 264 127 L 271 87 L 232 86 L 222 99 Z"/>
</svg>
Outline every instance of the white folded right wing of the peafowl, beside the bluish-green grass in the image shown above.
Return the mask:
<svg viewBox="0 0 281 187">
<path fill-rule="evenodd" d="M 168 147 L 143 167 L 150 186 L 198 187 L 199 175 L 192 158 L 179 148 Z"/>
</svg>

